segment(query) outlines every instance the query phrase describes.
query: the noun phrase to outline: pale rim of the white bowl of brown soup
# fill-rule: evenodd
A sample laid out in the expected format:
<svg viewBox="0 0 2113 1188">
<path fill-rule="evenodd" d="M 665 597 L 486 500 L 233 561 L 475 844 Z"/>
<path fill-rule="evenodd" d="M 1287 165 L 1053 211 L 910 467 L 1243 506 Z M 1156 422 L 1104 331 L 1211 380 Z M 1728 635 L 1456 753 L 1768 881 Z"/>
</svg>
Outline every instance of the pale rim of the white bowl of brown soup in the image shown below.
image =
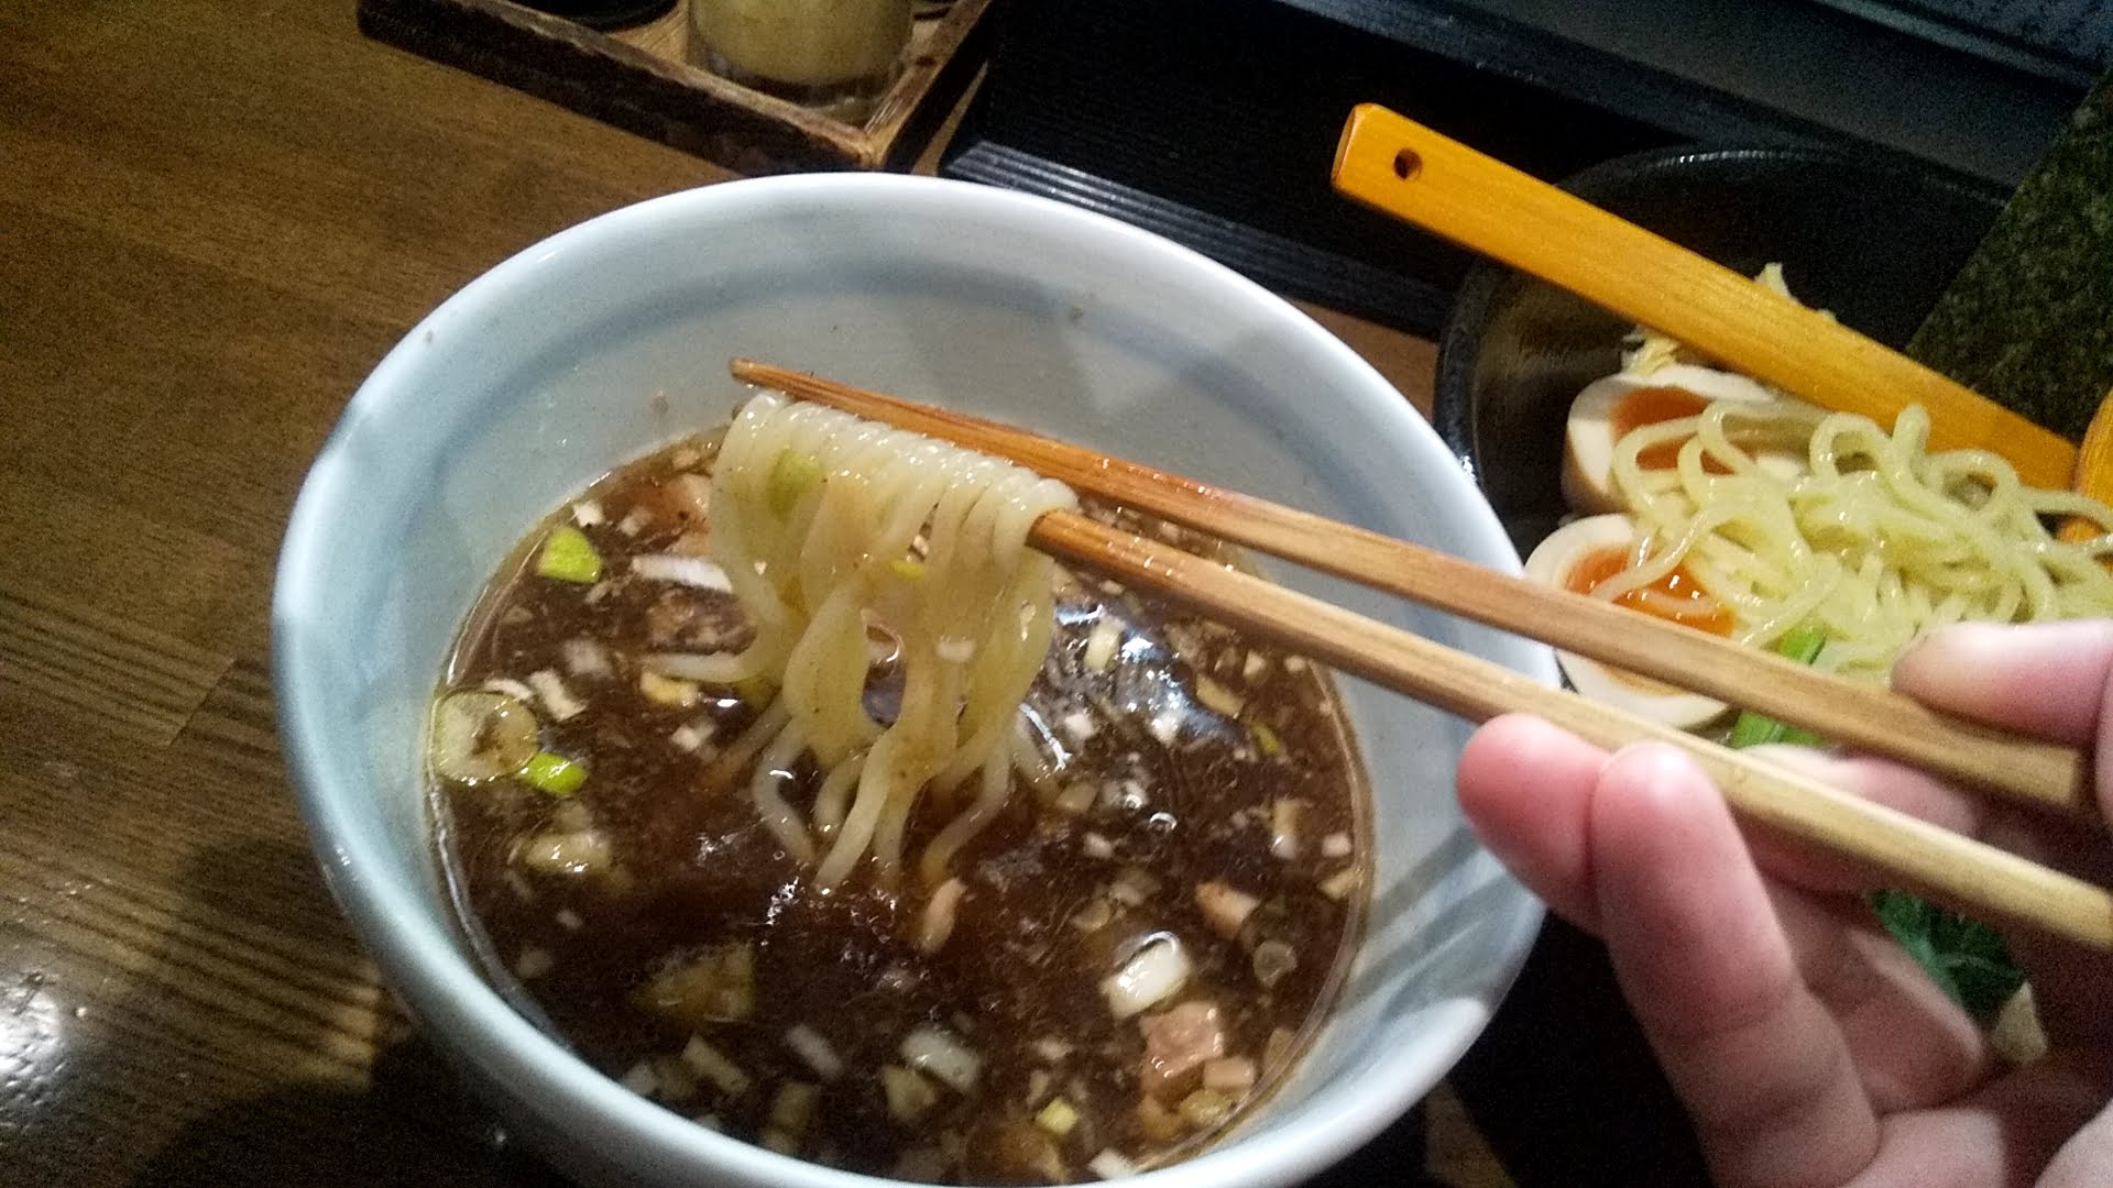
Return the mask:
<svg viewBox="0 0 2113 1188">
<path fill-rule="evenodd" d="M 1101 243 L 1139 254 L 1141 266 L 1143 260 L 1149 260 L 1162 268 L 1179 271 L 1183 277 L 1194 277 L 1196 283 L 1236 290 L 1245 302 L 1268 313 L 1270 321 L 1287 334 L 1306 336 L 1359 387 L 1386 393 L 1392 404 L 1399 404 L 1399 414 L 1388 414 L 1399 416 L 1399 431 L 1431 433 L 1431 425 L 1348 345 L 1291 302 L 1215 260 L 1116 218 L 1052 199 L 970 182 L 892 173 L 801 173 L 721 182 L 632 203 L 558 230 L 448 296 L 404 334 L 353 393 L 302 480 L 279 550 L 270 611 L 273 685 L 287 774 L 308 829 L 311 848 L 323 867 L 325 884 L 353 922 L 361 943 L 374 953 L 385 981 L 410 1006 L 420 1029 L 440 1036 L 435 1042 L 440 1051 L 484 1080 L 513 1087 L 507 1097 L 516 1106 L 564 1103 L 566 1110 L 577 1110 L 575 1129 L 592 1127 L 604 1139 L 642 1144 L 659 1158 L 674 1158 L 682 1167 L 695 1165 L 737 1184 L 879 1188 L 900 1182 L 828 1169 L 697 1127 L 592 1070 L 564 1044 L 524 1019 L 482 979 L 471 962 L 461 958 L 452 936 L 427 920 L 423 896 L 414 888 L 387 877 L 370 877 L 389 848 L 372 837 L 361 837 L 361 831 L 351 827 L 349 805 L 357 797 L 357 788 L 338 774 L 342 765 L 334 761 L 325 744 L 330 723 L 317 717 L 315 706 L 308 704 L 313 698 L 302 691 L 306 687 L 302 674 L 315 670 L 308 632 L 300 630 L 300 624 L 313 617 L 311 602 L 317 598 L 311 558 L 328 547 L 330 518 L 342 514 L 342 507 L 355 499 L 349 467 L 342 465 L 351 452 L 349 442 L 361 433 L 361 425 L 372 412 L 414 397 L 406 380 L 420 366 L 416 351 L 420 338 L 435 326 L 475 326 L 482 311 L 513 300 L 511 294 L 518 285 L 532 287 L 535 273 L 547 260 L 594 252 L 602 241 L 623 241 L 663 220 L 687 224 L 697 218 L 733 218 L 750 203 L 767 207 L 816 194 L 879 207 L 898 201 L 934 203 L 940 211 L 974 207 L 983 214 L 1035 220 L 1065 235 L 1097 237 Z M 1439 452 L 1443 454 L 1441 446 Z M 1473 484 L 1466 484 L 1464 493 L 1473 495 L 1464 512 L 1479 520 L 1475 535 L 1509 554 L 1504 531 L 1488 501 Z M 1555 683 L 1553 655 L 1534 651 L 1532 660 L 1538 672 L 1530 672 L 1530 676 Z M 1509 875 L 1502 877 L 1509 879 Z M 1431 1046 L 1424 1059 L 1397 1059 L 1378 1065 L 1365 1078 L 1365 1091 L 1354 1106 L 1333 1114 L 1329 1125 L 1308 1125 L 1261 1139 L 1234 1133 L 1192 1158 L 1145 1173 L 1147 1182 L 1158 1188 L 1207 1188 L 1228 1182 L 1291 1184 L 1373 1139 L 1458 1061 L 1517 979 L 1532 936 L 1538 932 L 1542 909 L 1523 888 L 1515 886 L 1515 896 L 1526 903 L 1517 905 L 1504 920 L 1511 934 L 1502 939 L 1500 951 L 1507 953 L 1507 960 L 1483 974 L 1475 996 L 1460 996 L 1433 1008 L 1431 1034 L 1443 1042 Z M 579 1076 L 581 1072 L 590 1076 Z"/>
</svg>

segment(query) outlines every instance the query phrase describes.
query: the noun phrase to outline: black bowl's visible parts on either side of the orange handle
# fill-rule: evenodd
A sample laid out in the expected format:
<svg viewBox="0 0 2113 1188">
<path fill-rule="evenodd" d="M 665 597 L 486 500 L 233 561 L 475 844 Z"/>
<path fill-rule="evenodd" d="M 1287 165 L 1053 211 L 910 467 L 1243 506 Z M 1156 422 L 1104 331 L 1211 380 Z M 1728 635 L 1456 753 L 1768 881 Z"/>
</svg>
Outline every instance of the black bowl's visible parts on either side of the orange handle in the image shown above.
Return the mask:
<svg viewBox="0 0 2113 1188">
<path fill-rule="evenodd" d="M 1904 347 L 1980 245 L 2003 194 L 1889 156 L 1830 148 L 1669 148 L 1564 188 L 1728 268 L 1781 262 L 1790 292 Z M 1564 516 L 1564 421 L 1621 366 L 1629 321 L 1481 264 L 1439 336 L 1433 421 L 1528 552 Z"/>
</svg>

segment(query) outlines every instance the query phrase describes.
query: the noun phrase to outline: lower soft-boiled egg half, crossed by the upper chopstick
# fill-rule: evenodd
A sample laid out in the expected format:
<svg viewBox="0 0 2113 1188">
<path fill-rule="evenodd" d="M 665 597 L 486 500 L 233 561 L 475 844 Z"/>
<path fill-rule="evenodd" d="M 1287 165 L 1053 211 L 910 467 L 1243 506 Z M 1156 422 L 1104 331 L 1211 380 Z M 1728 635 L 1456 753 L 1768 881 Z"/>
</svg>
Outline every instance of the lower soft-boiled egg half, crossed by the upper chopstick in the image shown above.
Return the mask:
<svg viewBox="0 0 2113 1188">
<path fill-rule="evenodd" d="M 1549 533 L 1549 539 L 1526 558 L 1526 575 L 1574 594 L 1591 594 L 1602 581 L 1629 569 L 1635 545 L 1635 520 L 1629 516 L 1587 516 Z M 1684 569 L 1614 598 L 1614 605 L 1714 634 L 1731 634 L 1733 628 L 1731 613 L 1703 594 Z M 1709 725 L 1728 710 L 1724 702 L 1570 651 L 1557 651 L 1555 657 L 1578 693 L 1678 729 Z"/>
</svg>

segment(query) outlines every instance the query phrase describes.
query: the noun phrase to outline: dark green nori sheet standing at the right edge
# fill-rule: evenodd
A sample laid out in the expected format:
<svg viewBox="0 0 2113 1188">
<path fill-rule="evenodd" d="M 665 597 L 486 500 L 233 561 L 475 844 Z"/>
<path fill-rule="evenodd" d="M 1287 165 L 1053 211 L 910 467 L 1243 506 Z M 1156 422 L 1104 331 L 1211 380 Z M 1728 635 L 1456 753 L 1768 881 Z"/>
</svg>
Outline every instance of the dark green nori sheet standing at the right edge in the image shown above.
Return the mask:
<svg viewBox="0 0 2113 1188">
<path fill-rule="evenodd" d="M 2003 207 L 1908 355 L 2083 435 L 2113 389 L 2113 74 Z"/>
</svg>

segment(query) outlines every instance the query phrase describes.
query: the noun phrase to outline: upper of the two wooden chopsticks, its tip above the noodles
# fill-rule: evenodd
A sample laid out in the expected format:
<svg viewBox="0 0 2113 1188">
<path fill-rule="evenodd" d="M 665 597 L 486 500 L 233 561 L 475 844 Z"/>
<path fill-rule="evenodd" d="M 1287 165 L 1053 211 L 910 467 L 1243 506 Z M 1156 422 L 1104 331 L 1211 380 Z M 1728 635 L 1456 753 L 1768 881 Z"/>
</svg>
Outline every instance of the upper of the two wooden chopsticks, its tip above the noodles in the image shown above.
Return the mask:
<svg viewBox="0 0 2113 1188">
<path fill-rule="evenodd" d="M 2092 820 L 2098 814 L 2088 761 L 2069 746 L 1942 714 L 1728 638 L 1069 442 L 750 359 L 735 359 L 731 370 L 740 380 L 1012 459 L 1126 507 L 1695 689 L 2024 805 Z"/>
</svg>

